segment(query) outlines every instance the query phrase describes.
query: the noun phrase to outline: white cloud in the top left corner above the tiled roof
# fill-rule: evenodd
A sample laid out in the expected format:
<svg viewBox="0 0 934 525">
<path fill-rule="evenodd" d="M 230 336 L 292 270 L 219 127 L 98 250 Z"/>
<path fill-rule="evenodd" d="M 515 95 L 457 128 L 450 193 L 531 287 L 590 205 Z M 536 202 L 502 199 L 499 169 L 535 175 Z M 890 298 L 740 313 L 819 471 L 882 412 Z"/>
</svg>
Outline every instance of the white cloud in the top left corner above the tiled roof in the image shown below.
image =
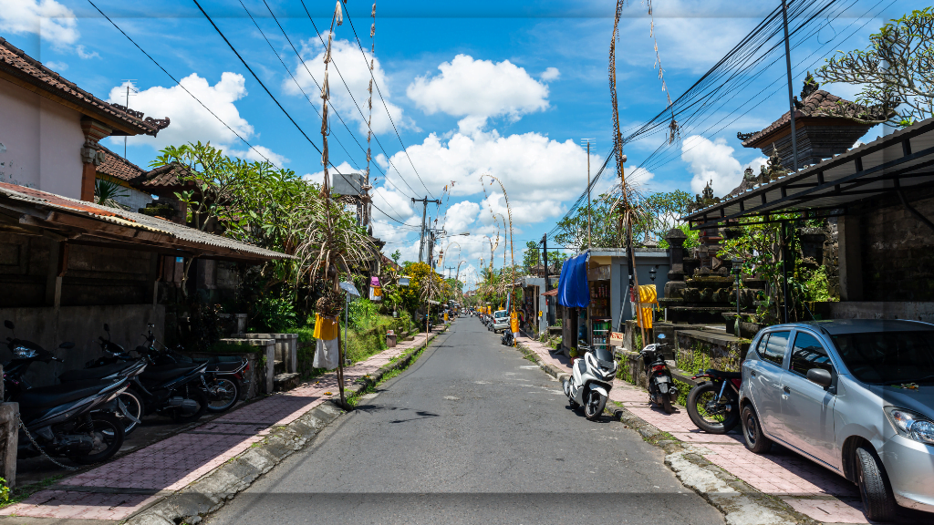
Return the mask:
<svg viewBox="0 0 934 525">
<path fill-rule="evenodd" d="M 79 35 L 75 13 L 55 0 L 0 0 L 0 31 L 41 35 L 60 49 L 74 44 Z"/>
</svg>

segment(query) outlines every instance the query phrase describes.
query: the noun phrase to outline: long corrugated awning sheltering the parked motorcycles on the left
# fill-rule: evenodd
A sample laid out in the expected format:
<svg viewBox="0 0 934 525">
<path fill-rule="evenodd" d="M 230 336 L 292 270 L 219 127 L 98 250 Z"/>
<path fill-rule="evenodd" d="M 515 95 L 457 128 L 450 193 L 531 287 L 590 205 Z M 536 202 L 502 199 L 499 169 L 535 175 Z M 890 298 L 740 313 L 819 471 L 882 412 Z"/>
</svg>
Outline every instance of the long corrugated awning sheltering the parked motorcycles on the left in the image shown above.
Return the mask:
<svg viewBox="0 0 934 525">
<path fill-rule="evenodd" d="M 253 263 L 294 259 L 285 253 L 207 234 L 171 220 L 4 182 L 0 182 L 0 232 L 176 257 Z"/>
</svg>

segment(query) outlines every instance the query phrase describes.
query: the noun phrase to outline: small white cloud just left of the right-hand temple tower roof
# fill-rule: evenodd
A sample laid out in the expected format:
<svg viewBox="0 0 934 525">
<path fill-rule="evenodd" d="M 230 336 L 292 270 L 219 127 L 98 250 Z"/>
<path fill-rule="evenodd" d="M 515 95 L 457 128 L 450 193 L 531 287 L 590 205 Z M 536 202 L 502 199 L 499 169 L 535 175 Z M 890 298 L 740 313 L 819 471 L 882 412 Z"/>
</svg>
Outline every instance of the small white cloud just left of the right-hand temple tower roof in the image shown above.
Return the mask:
<svg viewBox="0 0 934 525">
<path fill-rule="evenodd" d="M 725 195 L 743 181 L 743 170 L 765 163 L 764 158 L 756 159 L 743 166 L 733 157 L 733 149 L 727 146 L 724 138 L 713 141 L 701 135 L 688 136 L 681 146 L 681 160 L 688 163 L 691 177 L 691 191 L 700 193 L 708 182 L 715 195 Z"/>
</svg>

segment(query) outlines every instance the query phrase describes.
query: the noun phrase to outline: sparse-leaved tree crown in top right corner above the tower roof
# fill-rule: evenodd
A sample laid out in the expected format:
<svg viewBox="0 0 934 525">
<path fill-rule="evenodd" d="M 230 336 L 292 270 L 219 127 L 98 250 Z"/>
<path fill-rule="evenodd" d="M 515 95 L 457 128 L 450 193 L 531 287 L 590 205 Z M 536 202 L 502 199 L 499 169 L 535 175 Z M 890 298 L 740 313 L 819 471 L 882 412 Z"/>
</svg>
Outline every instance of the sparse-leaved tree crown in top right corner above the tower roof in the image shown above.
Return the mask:
<svg viewBox="0 0 934 525">
<path fill-rule="evenodd" d="M 856 121 L 908 126 L 934 116 L 934 10 L 913 10 L 870 35 L 866 50 L 838 51 L 816 71 L 825 82 L 862 86 L 856 107 L 829 111 Z M 838 103 L 839 104 L 839 103 Z"/>
</svg>

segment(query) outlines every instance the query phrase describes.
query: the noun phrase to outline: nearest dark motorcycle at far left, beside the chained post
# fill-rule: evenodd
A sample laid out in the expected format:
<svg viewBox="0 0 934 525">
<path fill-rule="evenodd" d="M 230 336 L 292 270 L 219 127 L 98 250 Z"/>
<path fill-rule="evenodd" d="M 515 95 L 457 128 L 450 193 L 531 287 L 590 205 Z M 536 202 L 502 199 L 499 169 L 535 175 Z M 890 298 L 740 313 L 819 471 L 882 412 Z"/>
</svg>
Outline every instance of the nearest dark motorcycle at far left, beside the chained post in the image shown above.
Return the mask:
<svg viewBox="0 0 934 525">
<path fill-rule="evenodd" d="M 13 323 L 4 325 L 13 330 Z M 63 343 L 60 348 L 74 348 Z M 30 388 L 22 374 L 32 362 L 62 360 L 30 341 L 7 337 L 13 359 L 4 363 L 5 399 L 20 404 L 21 427 L 17 454 L 66 457 L 81 464 L 106 461 L 123 446 L 123 425 L 114 416 L 121 410 L 118 396 L 127 388 L 125 377 Z"/>
</svg>

